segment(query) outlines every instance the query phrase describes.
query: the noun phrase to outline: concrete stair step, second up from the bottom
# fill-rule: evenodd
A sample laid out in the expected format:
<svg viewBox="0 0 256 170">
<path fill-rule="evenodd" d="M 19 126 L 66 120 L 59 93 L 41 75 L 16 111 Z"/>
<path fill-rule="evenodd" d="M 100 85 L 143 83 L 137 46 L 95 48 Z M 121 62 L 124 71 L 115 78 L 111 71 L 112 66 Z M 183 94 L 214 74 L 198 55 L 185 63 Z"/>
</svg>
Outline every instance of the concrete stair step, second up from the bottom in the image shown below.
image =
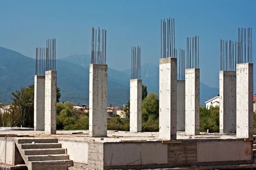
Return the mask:
<svg viewBox="0 0 256 170">
<path fill-rule="evenodd" d="M 31 155 L 27 156 L 28 161 L 57 161 L 57 160 L 69 160 L 69 155 L 55 154 L 55 155 Z"/>
</svg>

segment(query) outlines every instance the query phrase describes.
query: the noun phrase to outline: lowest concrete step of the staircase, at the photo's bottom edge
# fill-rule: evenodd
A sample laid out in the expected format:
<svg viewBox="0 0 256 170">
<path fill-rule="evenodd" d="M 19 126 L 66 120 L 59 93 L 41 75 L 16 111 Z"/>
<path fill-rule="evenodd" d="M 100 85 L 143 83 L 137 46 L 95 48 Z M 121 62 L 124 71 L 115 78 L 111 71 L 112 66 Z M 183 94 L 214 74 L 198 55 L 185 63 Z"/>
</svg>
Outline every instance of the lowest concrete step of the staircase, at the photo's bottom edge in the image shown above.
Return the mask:
<svg viewBox="0 0 256 170">
<path fill-rule="evenodd" d="M 68 165 L 73 166 L 72 160 L 58 161 L 31 161 L 32 170 L 67 170 Z"/>
</svg>

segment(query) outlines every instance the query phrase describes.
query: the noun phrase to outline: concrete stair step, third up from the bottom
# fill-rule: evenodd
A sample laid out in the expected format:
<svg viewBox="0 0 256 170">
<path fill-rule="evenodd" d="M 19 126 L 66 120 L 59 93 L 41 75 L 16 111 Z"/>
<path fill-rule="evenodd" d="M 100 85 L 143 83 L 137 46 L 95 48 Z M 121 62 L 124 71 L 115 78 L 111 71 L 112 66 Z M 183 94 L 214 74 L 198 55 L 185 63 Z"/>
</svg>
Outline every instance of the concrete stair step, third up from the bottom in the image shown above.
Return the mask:
<svg viewBox="0 0 256 170">
<path fill-rule="evenodd" d="M 24 149 L 25 155 L 52 155 L 52 154 L 64 154 L 64 148 L 52 148 L 52 149 Z"/>
</svg>

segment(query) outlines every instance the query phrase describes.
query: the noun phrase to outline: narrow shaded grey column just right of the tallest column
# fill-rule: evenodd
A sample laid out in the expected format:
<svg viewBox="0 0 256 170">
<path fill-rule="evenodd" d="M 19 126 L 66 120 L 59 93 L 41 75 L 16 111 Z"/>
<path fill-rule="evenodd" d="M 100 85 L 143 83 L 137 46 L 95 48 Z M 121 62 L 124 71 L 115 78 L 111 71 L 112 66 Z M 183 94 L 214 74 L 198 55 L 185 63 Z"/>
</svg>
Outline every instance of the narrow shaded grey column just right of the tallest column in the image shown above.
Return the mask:
<svg viewBox="0 0 256 170">
<path fill-rule="evenodd" d="M 185 131 L 185 80 L 177 80 L 177 131 Z"/>
</svg>

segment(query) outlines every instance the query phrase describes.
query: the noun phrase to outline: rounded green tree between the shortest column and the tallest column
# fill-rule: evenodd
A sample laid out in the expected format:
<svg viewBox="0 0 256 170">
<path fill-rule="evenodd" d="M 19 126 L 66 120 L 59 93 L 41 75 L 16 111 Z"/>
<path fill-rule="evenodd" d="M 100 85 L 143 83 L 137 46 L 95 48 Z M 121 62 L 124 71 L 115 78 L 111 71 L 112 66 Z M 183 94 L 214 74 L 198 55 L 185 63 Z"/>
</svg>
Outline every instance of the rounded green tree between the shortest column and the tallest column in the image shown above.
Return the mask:
<svg viewBox="0 0 256 170">
<path fill-rule="evenodd" d="M 142 119 L 147 121 L 148 119 L 155 120 L 159 117 L 159 99 L 158 95 L 154 92 L 148 94 L 148 96 L 142 102 Z"/>
</svg>

